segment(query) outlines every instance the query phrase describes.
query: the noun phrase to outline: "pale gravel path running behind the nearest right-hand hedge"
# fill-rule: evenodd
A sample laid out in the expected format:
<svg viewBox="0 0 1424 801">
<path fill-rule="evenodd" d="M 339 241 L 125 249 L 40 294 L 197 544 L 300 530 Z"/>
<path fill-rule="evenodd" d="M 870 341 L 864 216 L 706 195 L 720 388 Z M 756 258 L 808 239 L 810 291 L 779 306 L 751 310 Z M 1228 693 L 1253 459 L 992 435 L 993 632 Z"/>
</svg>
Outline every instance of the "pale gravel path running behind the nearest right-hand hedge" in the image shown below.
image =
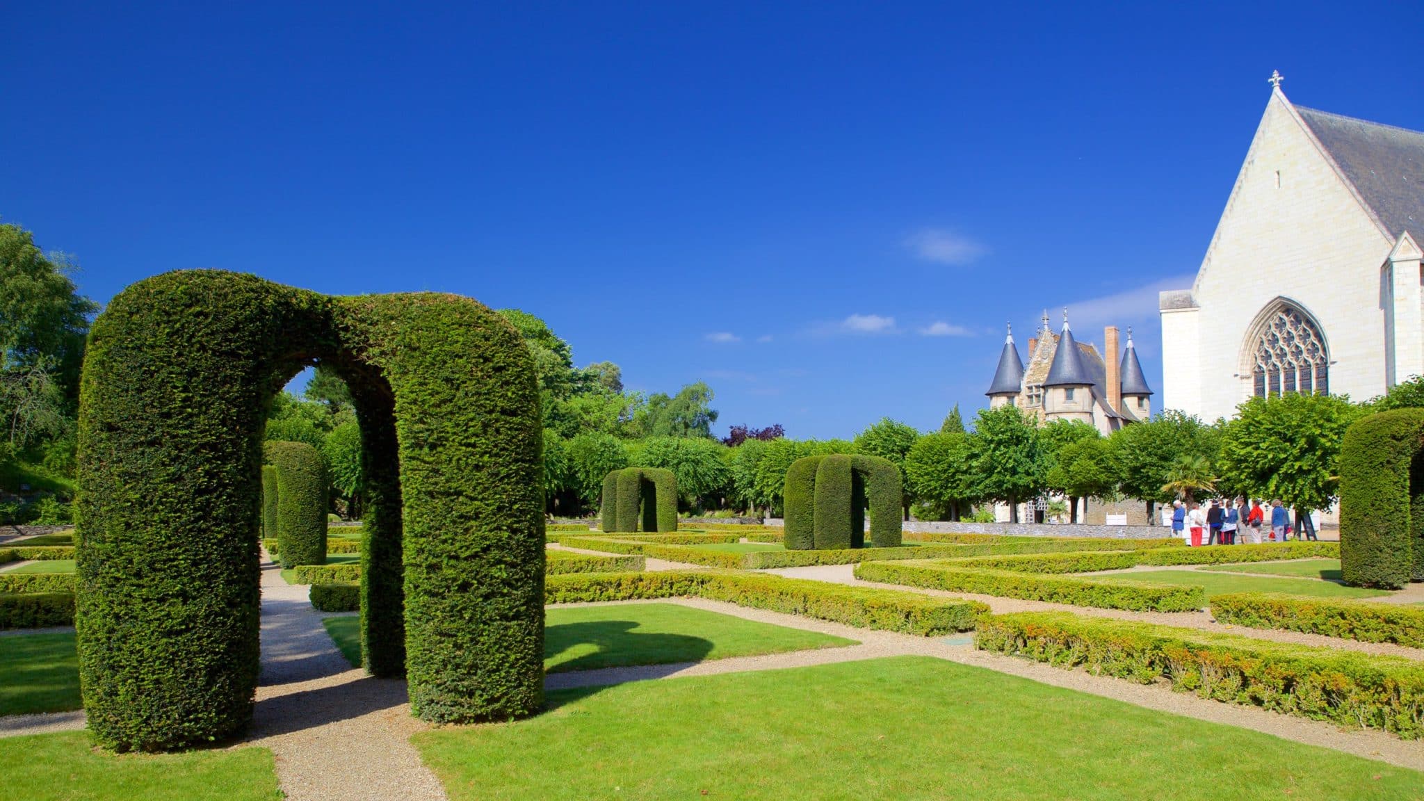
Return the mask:
<svg viewBox="0 0 1424 801">
<path fill-rule="evenodd" d="M 1124 609 L 1098 609 L 1092 606 L 1069 606 L 1062 603 L 1035 601 L 1024 599 L 1005 599 L 1000 596 L 981 596 L 975 593 L 951 593 L 946 590 L 931 590 L 927 587 L 909 587 L 904 584 L 883 584 L 879 582 L 862 582 L 854 576 L 853 564 L 826 564 L 816 567 L 779 567 L 765 570 L 792 579 L 815 579 L 834 584 L 856 584 L 862 587 L 880 587 L 884 590 L 904 590 L 927 596 L 970 599 L 984 601 L 994 614 L 1011 611 L 1071 611 L 1085 617 L 1112 617 L 1115 620 L 1138 620 L 1142 623 L 1158 623 L 1162 626 L 1180 626 L 1185 629 L 1199 629 L 1202 631 L 1218 631 L 1222 634 L 1239 634 L 1257 640 L 1272 640 L 1276 643 L 1294 643 L 1300 646 L 1323 646 L 1346 651 L 1360 651 L 1366 654 L 1386 654 L 1405 658 L 1424 660 L 1424 650 L 1407 648 L 1393 643 L 1361 643 L 1358 640 L 1343 640 L 1340 637 L 1323 637 L 1320 634 L 1304 634 L 1300 631 L 1284 631 L 1279 629 L 1247 629 L 1245 626 L 1229 626 L 1216 623 L 1206 611 L 1128 611 Z M 1411 584 L 1424 586 L 1424 584 Z"/>
</svg>

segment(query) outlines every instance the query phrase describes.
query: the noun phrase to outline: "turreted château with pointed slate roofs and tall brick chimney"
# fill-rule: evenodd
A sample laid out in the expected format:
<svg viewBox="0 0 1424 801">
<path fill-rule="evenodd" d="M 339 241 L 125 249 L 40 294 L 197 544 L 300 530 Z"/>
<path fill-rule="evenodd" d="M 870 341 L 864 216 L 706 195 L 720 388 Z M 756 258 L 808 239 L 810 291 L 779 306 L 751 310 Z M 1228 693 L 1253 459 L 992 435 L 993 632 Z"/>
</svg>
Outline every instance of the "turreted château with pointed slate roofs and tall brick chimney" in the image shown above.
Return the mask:
<svg viewBox="0 0 1424 801">
<path fill-rule="evenodd" d="M 1102 343 L 1106 353 L 1116 356 L 1115 326 L 1102 331 Z M 1010 329 L 985 395 L 990 409 L 1018 406 L 1040 422 L 1082 420 L 1104 436 L 1152 416 L 1152 389 L 1132 346 L 1132 329 L 1121 361 L 1104 359 L 1094 345 L 1074 338 L 1067 311 L 1059 334 L 1048 328 L 1044 312 L 1042 326 L 1028 341 L 1027 368 Z"/>
</svg>

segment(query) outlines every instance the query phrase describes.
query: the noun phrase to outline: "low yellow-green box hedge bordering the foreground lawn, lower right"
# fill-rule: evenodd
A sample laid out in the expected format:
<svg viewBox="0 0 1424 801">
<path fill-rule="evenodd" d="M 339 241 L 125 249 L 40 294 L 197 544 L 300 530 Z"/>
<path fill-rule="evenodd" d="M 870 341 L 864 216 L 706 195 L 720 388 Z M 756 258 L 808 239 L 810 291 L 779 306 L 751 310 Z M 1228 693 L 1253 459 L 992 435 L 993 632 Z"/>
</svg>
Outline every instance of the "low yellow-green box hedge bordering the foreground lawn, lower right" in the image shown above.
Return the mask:
<svg viewBox="0 0 1424 801">
<path fill-rule="evenodd" d="M 975 647 L 1055 667 L 1085 667 L 1178 691 L 1249 704 L 1404 740 L 1424 735 L 1424 664 L 1235 634 L 1068 613 L 990 614 Z"/>
</svg>

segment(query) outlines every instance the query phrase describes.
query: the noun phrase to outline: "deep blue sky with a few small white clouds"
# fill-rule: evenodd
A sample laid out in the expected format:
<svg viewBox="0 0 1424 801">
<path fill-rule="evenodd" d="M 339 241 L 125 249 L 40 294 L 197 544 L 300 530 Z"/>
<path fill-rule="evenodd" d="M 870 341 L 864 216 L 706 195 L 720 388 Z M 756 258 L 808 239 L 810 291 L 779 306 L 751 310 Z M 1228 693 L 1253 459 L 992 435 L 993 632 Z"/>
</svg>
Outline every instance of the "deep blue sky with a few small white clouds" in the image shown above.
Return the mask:
<svg viewBox="0 0 1424 801">
<path fill-rule="evenodd" d="M 1407 3 L 410 6 L 11 4 L 0 219 L 98 301 L 460 292 L 629 388 L 706 381 L 721 430 L 853 436 L 983 406 L 1045 306 L 1134 326 L 1161 389 L 1156 291 L 1273 68 L 1424 128 Z"/>
</svg>

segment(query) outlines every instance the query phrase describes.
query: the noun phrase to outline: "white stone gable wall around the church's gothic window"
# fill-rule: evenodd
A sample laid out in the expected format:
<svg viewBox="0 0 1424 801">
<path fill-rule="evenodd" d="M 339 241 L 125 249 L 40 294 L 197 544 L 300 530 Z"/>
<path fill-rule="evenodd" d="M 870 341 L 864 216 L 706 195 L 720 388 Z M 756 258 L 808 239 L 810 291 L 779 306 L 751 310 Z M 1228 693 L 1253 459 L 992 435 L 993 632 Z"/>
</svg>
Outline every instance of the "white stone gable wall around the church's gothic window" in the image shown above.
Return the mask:
<svg viewBox="0 0 1424 801">
<path fill-rule="evenodd" d="M 1320 324 L 1331 393 L 1384 392 L 1381 265 L 1393 245 L 1273 94 L 1192 286 L 1198 309 L 1162 312 L 1162 408 L 1230 416 L 1252 395 L 1245 338 L 1276 298 Z"/>
</svg>

